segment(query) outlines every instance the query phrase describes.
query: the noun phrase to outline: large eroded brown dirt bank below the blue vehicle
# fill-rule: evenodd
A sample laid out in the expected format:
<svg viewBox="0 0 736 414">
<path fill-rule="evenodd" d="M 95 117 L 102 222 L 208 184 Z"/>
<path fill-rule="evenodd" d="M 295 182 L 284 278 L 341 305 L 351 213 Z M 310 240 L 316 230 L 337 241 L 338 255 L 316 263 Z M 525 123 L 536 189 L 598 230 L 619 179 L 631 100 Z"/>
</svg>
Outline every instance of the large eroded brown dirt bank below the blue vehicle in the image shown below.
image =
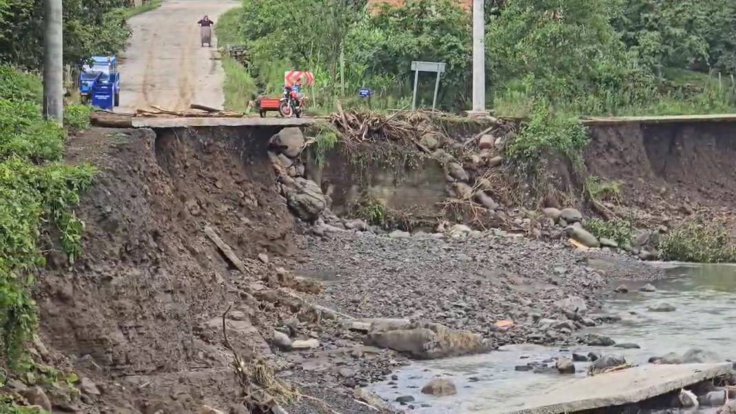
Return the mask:
<svg viewBox="0 0 736 414">
<path fill-rule="evenodd" d="M 77 211 L 84 253 L 73 265 L 54 254 L 37 299 L 52 362 L 104 385 L 102 401 L 86 400 L 96 410 L 187 413 L 232 401 L 219 316 L 230 301 L 252 299 L 245 285 L 272 271 L 253 258 L 294 251 L 292 216 L 260 155 L 274 132 L 93 129 L 71 140 L 68 159 L 100 170 Z M 250 274 L 224 260 L 205 226 Z M 231 340 L 265 352 L 250 313 L 236 301 Z"/>
</svg>

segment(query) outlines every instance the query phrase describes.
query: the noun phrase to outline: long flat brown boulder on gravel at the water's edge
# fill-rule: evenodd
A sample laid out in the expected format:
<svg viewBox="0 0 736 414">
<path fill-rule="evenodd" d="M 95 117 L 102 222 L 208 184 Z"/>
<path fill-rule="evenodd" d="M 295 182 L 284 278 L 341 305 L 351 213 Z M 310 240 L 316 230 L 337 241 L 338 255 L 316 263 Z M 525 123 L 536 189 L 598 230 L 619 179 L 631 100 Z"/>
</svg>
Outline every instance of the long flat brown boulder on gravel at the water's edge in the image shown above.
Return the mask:
<svg viewBox="0 0 736 414">
<path fill-rule="evenodd" d="M 373 330 L 367 335 L 366 343 L 393 349 L 419 360 L 457 357 L 492 349 L 481 335 L 422 322 L 389 326 L 383 331 Z"/>
</svg>

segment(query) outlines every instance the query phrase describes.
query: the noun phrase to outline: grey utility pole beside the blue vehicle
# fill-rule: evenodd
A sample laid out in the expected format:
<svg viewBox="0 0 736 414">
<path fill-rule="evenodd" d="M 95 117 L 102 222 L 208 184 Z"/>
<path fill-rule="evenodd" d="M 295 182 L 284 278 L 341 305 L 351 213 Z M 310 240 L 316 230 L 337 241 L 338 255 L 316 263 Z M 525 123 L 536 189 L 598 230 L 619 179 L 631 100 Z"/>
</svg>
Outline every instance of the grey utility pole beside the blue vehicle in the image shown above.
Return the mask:
<svg viewBox="0 0 736 414">
<path fill-rule="evenodd" d="M 43 32 L 43 116 L 63 121 L 64 68 L 62 43 L 62 0 L 44 0 Z"/>
</svg>

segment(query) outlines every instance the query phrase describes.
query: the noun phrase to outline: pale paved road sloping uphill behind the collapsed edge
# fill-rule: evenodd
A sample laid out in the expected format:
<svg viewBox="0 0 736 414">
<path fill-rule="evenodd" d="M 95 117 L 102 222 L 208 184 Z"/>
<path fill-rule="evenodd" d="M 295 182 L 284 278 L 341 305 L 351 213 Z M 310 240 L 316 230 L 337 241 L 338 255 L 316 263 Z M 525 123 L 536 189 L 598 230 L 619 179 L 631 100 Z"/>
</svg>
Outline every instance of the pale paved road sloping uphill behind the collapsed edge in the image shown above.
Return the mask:
<svg viewBox="0 0 736 414">
<path fill-rule="evenodd" d="M 222 107 L 224 72 L 213 47 L 199 44 L 197 21 L 217 21 L 238 7 L 229 0 L 164 0 L 157 10 L 130 18 L 133 35 L 122 54 L 121 112 L 158 105 L 181 110 L 191 103 Z"/>
</svg>

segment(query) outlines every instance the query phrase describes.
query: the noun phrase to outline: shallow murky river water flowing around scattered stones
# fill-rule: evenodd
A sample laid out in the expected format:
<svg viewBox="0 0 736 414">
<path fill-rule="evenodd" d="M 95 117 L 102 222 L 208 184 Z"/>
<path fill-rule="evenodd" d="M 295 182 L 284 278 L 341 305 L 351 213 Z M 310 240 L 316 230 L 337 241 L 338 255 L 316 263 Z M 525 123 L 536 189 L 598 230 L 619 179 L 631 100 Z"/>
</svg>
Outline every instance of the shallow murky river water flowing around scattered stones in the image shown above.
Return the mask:
<svg viewBox="0 0 736 414">
<path fill-rule="evenodd" d="M 620 315 L 621 321 L 590 329 L 617 343 L 637 343 L 640 349 L 508 346 L 484 355 L 417 362 L 395 373 L 398 379 L 378 383 L 373 390 L 389 401 L 398 396 L 414 397 L 410 403 L 414 413 L 482 413 L 493 412 L 509 399 L 539 393 L 568 378 L 515 371 L 517 365 L 545 360 L 553 365 L 551 358 L 570 357 L 573 351 L 623 355 L 634 364 L 645 364 L 652 356 L 668 352 L 682 354 L 693 348 L 713 351 L 723 360 L 736 358 L 736 329 L 733 329 L 736 265 L 659 265 L 667 269 L 668 278 L 653 284 L 657 291 L 639 292 L 643 283 L 628 283 L 631 293 L 615 294 L 603 310 L 606 314 Z M 665 313 L 648 310 L 662 303 L 672 304 L 676 310 Z M 576 375 L 585 375 L 585 365 L 576 363 Z M 422 394 L 422 386 L 438 376 L 451 379 L 458 394 L 450 397 Z"/>
</svg>

